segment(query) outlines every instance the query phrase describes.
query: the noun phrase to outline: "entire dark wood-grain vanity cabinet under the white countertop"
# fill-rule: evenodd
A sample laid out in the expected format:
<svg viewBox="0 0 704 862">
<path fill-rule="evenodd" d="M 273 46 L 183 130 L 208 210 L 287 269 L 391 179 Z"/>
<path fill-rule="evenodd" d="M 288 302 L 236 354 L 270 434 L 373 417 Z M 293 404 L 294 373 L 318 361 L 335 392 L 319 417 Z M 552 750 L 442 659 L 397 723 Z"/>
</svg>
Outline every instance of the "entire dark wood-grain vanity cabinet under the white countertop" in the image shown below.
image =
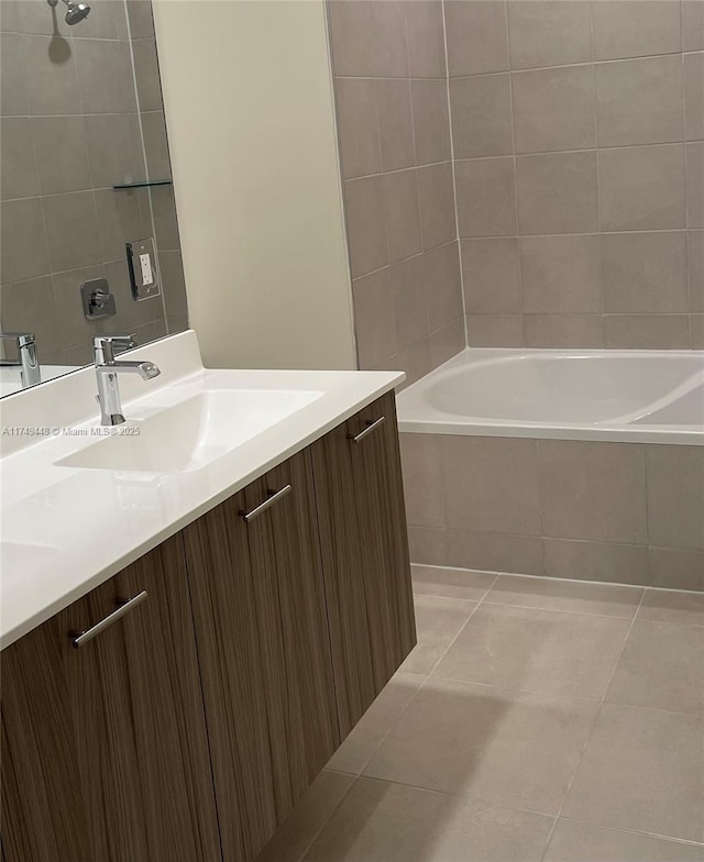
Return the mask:
<svg viewBox="0 0 704 862">
<path fill-rule="evenodd" d="M 388 394 L 2 652 L 3 862 L 252 862 L 414 643 Z"/>
</svg>

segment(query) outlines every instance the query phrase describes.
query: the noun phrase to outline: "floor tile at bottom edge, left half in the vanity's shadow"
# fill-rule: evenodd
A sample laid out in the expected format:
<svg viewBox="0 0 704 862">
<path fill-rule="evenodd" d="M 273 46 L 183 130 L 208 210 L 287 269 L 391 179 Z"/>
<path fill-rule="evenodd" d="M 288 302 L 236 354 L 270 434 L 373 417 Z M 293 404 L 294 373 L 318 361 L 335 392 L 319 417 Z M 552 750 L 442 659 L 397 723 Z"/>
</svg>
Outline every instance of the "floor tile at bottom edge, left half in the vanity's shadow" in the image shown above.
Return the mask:
<svg viewBox="0 0 704 862">
<path fill-rule="evenodd" d="M 552 818 L 360 778 L 305 862 L 539 862 Z"/>
</svg>

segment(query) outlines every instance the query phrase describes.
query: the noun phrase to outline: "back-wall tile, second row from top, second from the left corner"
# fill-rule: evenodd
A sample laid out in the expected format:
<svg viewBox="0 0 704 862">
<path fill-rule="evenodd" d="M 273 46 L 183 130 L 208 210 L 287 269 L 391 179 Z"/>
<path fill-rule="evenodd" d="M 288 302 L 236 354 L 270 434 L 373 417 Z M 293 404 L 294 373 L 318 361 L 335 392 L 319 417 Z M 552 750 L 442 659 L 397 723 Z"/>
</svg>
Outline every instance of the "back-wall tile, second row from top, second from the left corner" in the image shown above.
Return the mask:
<svg viewBox="0 0 704 862">
<path fill-rule="evenodd" d="M 596 145 L 591 66 L 515 73 L 516 152 L 587 150 Z"/>
</svg>

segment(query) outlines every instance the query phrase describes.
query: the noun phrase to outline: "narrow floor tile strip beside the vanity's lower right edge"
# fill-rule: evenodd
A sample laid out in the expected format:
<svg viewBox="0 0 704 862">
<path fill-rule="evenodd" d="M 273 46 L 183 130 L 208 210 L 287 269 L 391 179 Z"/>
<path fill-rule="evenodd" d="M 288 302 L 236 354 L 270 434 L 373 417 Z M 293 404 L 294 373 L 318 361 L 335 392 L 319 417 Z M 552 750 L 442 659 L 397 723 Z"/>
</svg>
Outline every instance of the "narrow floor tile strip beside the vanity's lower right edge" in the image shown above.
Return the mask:
<svg viewBox="0 0 704 862">
<path fill-rule="evenodd" d="M 359 774 L 425 678 L 397 672 L 332 755 L 328 769 Z"/>
</svg>

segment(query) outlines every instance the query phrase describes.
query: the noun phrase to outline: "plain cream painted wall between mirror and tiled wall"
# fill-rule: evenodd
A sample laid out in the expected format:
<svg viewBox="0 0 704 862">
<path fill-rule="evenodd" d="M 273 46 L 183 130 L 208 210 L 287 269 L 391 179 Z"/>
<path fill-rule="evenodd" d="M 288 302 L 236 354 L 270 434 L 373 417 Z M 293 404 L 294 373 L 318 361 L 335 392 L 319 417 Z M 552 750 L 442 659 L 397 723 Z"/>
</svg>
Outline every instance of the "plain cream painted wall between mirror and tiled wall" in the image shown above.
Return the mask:
<svg viewBox="0 0 704 862">
<path fill-rule="evenodd" d="M 322 0 L 155 0 L 189 318 L 210 366 L 355 366 Z"/>
</svg>

